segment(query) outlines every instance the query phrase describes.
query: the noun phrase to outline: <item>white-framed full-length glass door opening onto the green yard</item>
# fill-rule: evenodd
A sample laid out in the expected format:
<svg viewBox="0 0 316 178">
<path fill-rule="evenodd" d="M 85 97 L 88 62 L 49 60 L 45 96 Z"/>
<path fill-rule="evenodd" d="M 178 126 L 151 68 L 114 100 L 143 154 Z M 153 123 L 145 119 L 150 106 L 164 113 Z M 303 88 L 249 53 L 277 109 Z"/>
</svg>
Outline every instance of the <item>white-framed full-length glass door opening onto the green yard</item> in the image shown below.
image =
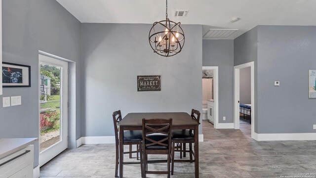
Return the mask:
<svg viewBox="0 0 316 178">
<path fill-rule="evenodd" d="M 68 144 L 68 62 L 39 54 L 40 166 Z"/>
</svg>

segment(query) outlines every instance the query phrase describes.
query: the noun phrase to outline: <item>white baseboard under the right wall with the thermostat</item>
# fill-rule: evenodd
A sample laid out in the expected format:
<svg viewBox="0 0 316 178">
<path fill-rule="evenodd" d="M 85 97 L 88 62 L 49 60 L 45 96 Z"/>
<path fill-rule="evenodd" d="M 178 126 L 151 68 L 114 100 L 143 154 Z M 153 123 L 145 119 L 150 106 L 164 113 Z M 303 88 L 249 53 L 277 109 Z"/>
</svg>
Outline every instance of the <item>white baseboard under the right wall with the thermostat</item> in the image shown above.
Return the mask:
<svg viewBox="0 0 316 178">
<path fill-rule="evenodd" d="M 257 141 L 316 140 L 316 133 L 291 133 L 291 134 L 254 133 L 253 139 Z"/>
</svg>

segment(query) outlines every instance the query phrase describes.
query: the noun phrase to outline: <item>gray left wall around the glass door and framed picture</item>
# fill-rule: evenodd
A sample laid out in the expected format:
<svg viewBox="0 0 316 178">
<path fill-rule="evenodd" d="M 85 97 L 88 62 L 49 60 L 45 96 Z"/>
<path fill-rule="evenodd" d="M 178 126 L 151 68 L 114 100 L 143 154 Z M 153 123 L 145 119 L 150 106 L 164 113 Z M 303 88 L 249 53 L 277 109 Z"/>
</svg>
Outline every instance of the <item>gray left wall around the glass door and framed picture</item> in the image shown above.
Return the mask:
<svg viewBox="0 0 316 178">
<path fill-rule="evenodd" d="M 32 87 L 3 88 L 3 96 L 21 95 L 22 105 L 2 108 L 1 104 L 0 138 L 39 137 L 38 51 L 75 61 L 79 72 L 79 44 L 80 22 L 57 1 L 2 0 L 3 61 L 30 65 Z M 80 103 L 79 75 L 76 78 Z M 79 122 L 80 115 L 77 119 Z M 37 142 L 34 166 L 38 164 Z"/>
</svg>

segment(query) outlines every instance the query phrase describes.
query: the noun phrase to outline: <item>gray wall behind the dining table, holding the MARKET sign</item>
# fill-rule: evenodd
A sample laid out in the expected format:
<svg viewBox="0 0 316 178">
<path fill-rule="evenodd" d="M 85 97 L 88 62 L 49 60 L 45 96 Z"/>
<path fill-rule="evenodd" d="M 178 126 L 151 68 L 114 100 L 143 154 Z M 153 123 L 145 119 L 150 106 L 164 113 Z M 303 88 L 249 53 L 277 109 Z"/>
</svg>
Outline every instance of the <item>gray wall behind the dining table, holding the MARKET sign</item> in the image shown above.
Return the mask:
<svg viewBox="0 0 316 178">
<path fill-rule="evenodd" d="M 184 48 L 166 58 L 149 45 L 151 24 L 81 25 L 82 136 L 114 135 L 112 113 L 119 109 L 123 116 L 201 111 L 202 28 L 181 26 Z M 137 92 L 137 75 L 161 75 L 161 91 Z"/>
</svg>

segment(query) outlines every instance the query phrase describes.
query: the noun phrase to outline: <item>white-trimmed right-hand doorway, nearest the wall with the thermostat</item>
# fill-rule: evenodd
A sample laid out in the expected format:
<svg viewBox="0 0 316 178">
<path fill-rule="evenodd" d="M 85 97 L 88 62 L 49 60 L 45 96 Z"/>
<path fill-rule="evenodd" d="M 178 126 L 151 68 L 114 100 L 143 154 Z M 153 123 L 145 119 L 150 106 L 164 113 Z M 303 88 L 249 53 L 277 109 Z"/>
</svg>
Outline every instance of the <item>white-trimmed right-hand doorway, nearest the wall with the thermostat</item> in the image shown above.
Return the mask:
<svg viewBox="0 0 316 178">
<path fill-rule="evenodd" d="M 240 71 L 250 67 L 250 103 L 240 103 Z M 243 86 L 242 86 L 243 87 Z M 249 102 L 249 101 L 245 101 Z M 251 137 L 254 138 L 254 62 L 234 66 L 234 129 L 240 128 L 240 113 L 251 123 Z M 243 114 L 242 114 L 243 113 Z M 249 118 L 250 117 L 250 118 Z M 245 118 L 245 117 L 244 117 Z"/>
</svg>

